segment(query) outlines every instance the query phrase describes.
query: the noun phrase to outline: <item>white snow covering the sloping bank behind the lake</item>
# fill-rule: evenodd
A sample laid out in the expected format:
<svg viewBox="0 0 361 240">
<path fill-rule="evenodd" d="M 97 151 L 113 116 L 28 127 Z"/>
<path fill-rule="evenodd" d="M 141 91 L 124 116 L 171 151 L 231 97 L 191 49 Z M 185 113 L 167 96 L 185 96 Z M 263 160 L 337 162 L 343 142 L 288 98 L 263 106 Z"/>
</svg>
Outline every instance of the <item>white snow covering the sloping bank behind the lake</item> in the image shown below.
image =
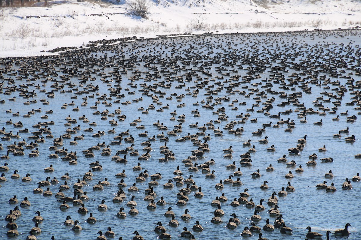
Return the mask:
<svg viewBox="0 0 361 240">
<path fill-rule="evenodd" d="M 47 51 L 131 36 L 361 26 L 361 4 L 352 0 L 153 0 L 148 19 L 129 14 L 130 1 L 53 0 L 46 7 L 44 2 L 2 7 L 0 57 L 53 55 Z"/>
</svg>

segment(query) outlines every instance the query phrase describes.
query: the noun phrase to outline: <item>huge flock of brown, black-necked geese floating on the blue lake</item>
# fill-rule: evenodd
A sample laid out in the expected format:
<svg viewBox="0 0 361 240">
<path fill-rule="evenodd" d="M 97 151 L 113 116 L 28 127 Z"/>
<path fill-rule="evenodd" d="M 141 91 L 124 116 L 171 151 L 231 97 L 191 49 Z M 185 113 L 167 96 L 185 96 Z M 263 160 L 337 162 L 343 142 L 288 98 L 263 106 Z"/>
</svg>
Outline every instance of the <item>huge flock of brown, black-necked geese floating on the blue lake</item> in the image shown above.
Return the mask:
<svg viewBox="0 0 361 240">
<path fill-rule="evenodd" d="M 272 164 L 268 163 L 257 171 L 251 170 L 248 173 L 257 161 L 251 159 L 259 150 L 255 142 L 261 146 L 268 143 L 271 145 L 274 137 L 270 137 L 268 133 L 273 128 L 284 128 L 284 134 L 287 134 L 296 127 L 307 126 L 306 129 L 322 126 L 331 116 L 337 116 L 332 121 L 349 124 L 349 127 L 340 129 L 331 137 L 344 139 L 345 144 L 357 141 L 357 135 L 347 134 L 357 134 L 356 127 L 352 124 L 357 124 L 357 114 L 361 114 L 357 112 L 361 110 L 361 81 L 357 81 L 361 75 L 361 62 L 357 57 L 359 46 L 327 42 L 300 46 L 300 40 L 297 39 L 322 40 L 326 37 L 358 36 L 360 33 L 349 30 L 277 34 L 282 40 L 275 40 L 275 44 L 270 44 L 276 36 L 272 34 L 139 39 L 119 45 L 104 44 L 83 48 L 53 58 L 39 56 L 0 59 L 0 104 L 10 106 L 7 110 L 1 108 L 3 127 L 0 130 L 0 153 L 4 153 L 0 157 L 3 163 L 0 167 L 1 185 L 15 186 L 18 181 L 29 183 L 27 186 L 33 188 L 34 194 L 48 197 L 44 201 L 59 203 L 61 213 L 57 214 L 63 214 L 64 225 L 77 232 L 83 230 L 83 222 L 74 221 L 68 212 L 64 212 L 71 208 L 70 203 L 73 207 L 78 207 L 79 214 L 89 214 L 86 222 L 92 224 L 91 231 L 94 231 L 97 219 L 90 213 L 93 209 L 88 210 L 86 207 L 90 199 L 99 201 L 98 212 L 106 211 L 106 204 L 113 202 L 119 206 L 119 211 L 114 216 L 127 221 L 129 215 L 140 214 L 136 209 L 139 204 L 136 200 L 140 200 L 136 193 L 144 191 L 143 200 L 147 201 L 147 209 L 150 211 L 170 205 L 164 213 L 165 219 L 169 219 L 168 225 L 161 221 L 154 222 L 154 232 L 159 239 L 196 239 L 197 234 L 204 231 L 201 223 L 208 221 L 206 218 L 209 216 L 193 220 L 190 213 L 196 209 L 191 208 L 191 203 L 196 203 L 197 199 L 205 196 L 202 190 L 206 189 L 208 192 L 208 189 L 215 188 L 223 193 L 212 198 L 209 203 L 215 208 L 214 216 L 209 219 L 214 224 L 212 228 L 217 228 L 217 225 L 225 226 L 242 237 L 256 235 L 258 240 L 267 239 L 265 236 L 272 231 L 292 234 L 292 228 L 286 226 L 287 221 L 284 221 L 287 213 L 279 210 L 282 208 L 282 200 L 279 198 L 297 192 L 291 184 L 292 179 L 295 178 L 295 173 L 306 170 L 302 165 L 296 164 L 295 160 L 290 161 L 288 156 L 302 155 L 308 135 L 298 140 L 300 136 L 297 136 L 288 153 L 281 153 L 283 157 L 269 162 Z M 295 48 L 298 50 L 295 51 Z M 344 55 L 346 52 L 348 54 Z M 312 94 L 314 89 L 322 89 L 321 94 L 312 99 L 312 102 L 305 102 L 303 97 Z M 350 95 L 350 99 L 345 97 L 346 94 Z M 64 103 L 59 104 L 61 101 Z M 193 103 L 193 110 L 184 111 L 183 109 L 187 109 L 184 102 L 187 105 Z M 20 104 L 29 107 L 19 107 Z M 140 108 L 132 107 L 135 104 L 144 105 Z M 348 109 L 340 112 L 339 108 L 345 106 Z M 62 118 L 52 117 L 64 112 L 67 114 Z M 129 116 L 138 113 L 139 117 L 129 119 Z M 311 115 L 318 115 L 319 121 L 308 123 Z M 213 119 L 202 116 L 212 116 Z M 166 120 L 169 117 L 169 121 Z M 269 118 L 266 122 L 261 120 L 265 117 Z M 157 121 L 153 123 L 149 119 Z M 173 124 L 175 122 L 177 124 Z M 109 130 L 100 129 L 99 125 L 108 126 Z M 254 129 L 254 126 L 258 129 Z M 189 132 L 184 133 L 184 129 Z M 225 160 L 212 157 L 213 149 L 222 144 L 219 140 L 222 136 L 238 139 L 247 133 L 252 133 L 255 137 L 243 144 L 235 142 L 233 146 L 227 146 L 223 150 Z M 103 141 L 107 136 L 113 137 L 113 140 Z M 264 138 L 260 139 L 260 136 Z M 292 139 L 290 135 L 287 138 Z M 87 146 L 80 148 L 79 146 L 85 146 L 84 140 L 88 142 Z M 187 158 L 178 158 L 179 146 L 186 146 L 189 142 L 192 142 L 194 149 L 189 151 Z M 156 149 L 155 146 L 158 145 L 159 148 Z M 239 149 L 245 148 L 248 150 L 243 150 L 240 155 L 235 154 Z M 265 149 L 274 152 L 277 147 L 268 145 Z M 318 149 L 318 152 L 326 151 L 327 147 L 323 144 Z M 152 155 L 161 157 L 155 159 Z M 212 159 L 200 164 L 207 157 Z M 27 172 L 21 164 L 22 161 L 28 161 L 28 158 L 29 161 L 40 158 L 44 162 L 50 162 L 41 171 L 54 177 L 34 181 L 38 180 L 38 173 Z M 361 158 L 361 154 L 355 155 L 355 158 Z M 316 167 L 319 160 L 332 163 L 334 158 L 318 159 L 314 153 L 308 156 L 308 161 L 304 164 Z M 229 164 L 224 164 L 225 161 Z M 172 162 L 177 166 L 174 169 L 169 167 L 173 165 L 164 165 Z M 273 192 L 268 199 L 260 199 L 260 204 L 256 204 L 252 192 L 270 188 L 269 182 L 263 181 L 263 178 L 267 173 L 275 171 L 273 165 L 277 162 L 284 163 L 284 169 L 287 169 L 282 176 L 286 179 L 287 186 L 279 192 Z M 71 167 L 65 174 L 57 170 L 57 166 L 76 166 L 78 163 L 86 163 L 83 173 L 72 172 Z M 119 171 L 113 163 L 123 169 Z M 134 167 L 130 168 L 127 166 L 129 164 Z M 159 169 L 158 172 L 148 173 L 149 170 L 144 169 L 144 166 L 158 166 L 157 164 L 160 167 L 153 168 Z M 233 173 L 217 175 L 221 168 Z M 293 168 L 296 168 L 295 171 L 289 170 Z M 99 172 L 106 176 L 104 181 L 98 177 Z M 132 173 L 128 174 L 129 172 Z M 79 179 L 73 177 L 79 174 L 82 175 Z M 168 178 L 171 174 L 173 177 Z M 247 178 L 245 175 L 251 175 L 254 179 L 262 178 L 260 190 L 243 184 L 243 179 Z M 168 179 L 160 184 L 159 181 L 162 181 L 162 177 L 164 180 L 164 176 Z M 215 185 L 206 184 L 216 177 L 222 180 Z M 343 190 L 351 190 L 352 182 L 360 181 L 357 172 L 342 184 L 334 183 L 333 177 L 332 170 L 328 171 L 324 176 L 327 181 L 320 181 L 315 188 L 335 192 L 338 190 L 336 187 L 342 185 Z M 205 183 L 200 178 L 205 178 Z M 115 179 L 119 183 L 111 184 Z M 203 184 L 197 186 L 196 182 Z M 223 189 L 242 185 L 246 187 L 244 191 L 238 196 L 232 196 L 234 200 L 229 203 L 226 196 L 229 194 Z M 112 199 L 99 199 L 97 193 L 109 188 L 114 190 Z M 6 191 L 15 191 L 15 188 L 8 188 Z M 166 191 L 174 193 L 173 200 L 162 196 Z M 23 200 L 17 199 L 20 194 L 12 193 L 14 196 L 8 201 L 10 205 L 2 206 L 9 212 L 3 216 L 8 228 L 6 235 L 19 235 L 17 222 L 21 221 L 21 209 L 31 209 L 36 214 L 32 219 L 35 227 L 21 231 L 28 232 L 26 239 L 33 240 L 42 233 L 42 222 L 51 219 L 43 219 L 41 208 L 32 209 L 29 196 Z M 262 205 L 263 202 L 267 203 L 266 206 Z M 225 214 L 224 208 L 222 209 L 228 204 L 234 207 L 232 214 Z M 185 209 L 182 216 L 173 212 L 173 208 L 187 205 L 191 210 Z M 207 209 L 209 205 L 202 205 L 200 208 Z M 248 223 L 237 218 L 240 215 L 237 208 L 239 206 L 252 209 L 253 215 L 247 217 Z M 266 211 L 267 207 L 270 209 Z M 262 212 L 269 214 L 266 221 Z M 225 219 L 226 216 L 231 218 Z M 145 217 L 142 221 L 153 228 L 151 219 Z M 129 221 L 131 224 L 132 220 Z M 171 236 L 167 230 L 182 226 L 182 221 L 192 221 L 194 226 L 191 230 L 183 227 L 177 236 Z M 340 221 L 340 225 L 345 227 L 325 232 L 327 239 L 332 239 L 330 234 L 350 235 L 348 227 L 351 224 L 344 222 L 345 219 Z M 120 227 L 109 226 L 106 230 L 97 230 L 94 238 L 105 240 L 118 237 L 122 240 L 119 237 L 122 232 L 113 231 L 120 228 L 124 234 L 127 229 L 122 228 L 122 224 L 119 223 Z M 243 230 L 238 230 L 239 227 Z M 305 234 L 306 239 L 320 239 L 324 235 L 312 231 L 311 226 L 305 229 Z M 136 230 L 132 235 L 133 240 L 153 237 L 143 237 Z M 51 237 L 52 240 L 56 238 L 62 237 Z"/>
</svg>

